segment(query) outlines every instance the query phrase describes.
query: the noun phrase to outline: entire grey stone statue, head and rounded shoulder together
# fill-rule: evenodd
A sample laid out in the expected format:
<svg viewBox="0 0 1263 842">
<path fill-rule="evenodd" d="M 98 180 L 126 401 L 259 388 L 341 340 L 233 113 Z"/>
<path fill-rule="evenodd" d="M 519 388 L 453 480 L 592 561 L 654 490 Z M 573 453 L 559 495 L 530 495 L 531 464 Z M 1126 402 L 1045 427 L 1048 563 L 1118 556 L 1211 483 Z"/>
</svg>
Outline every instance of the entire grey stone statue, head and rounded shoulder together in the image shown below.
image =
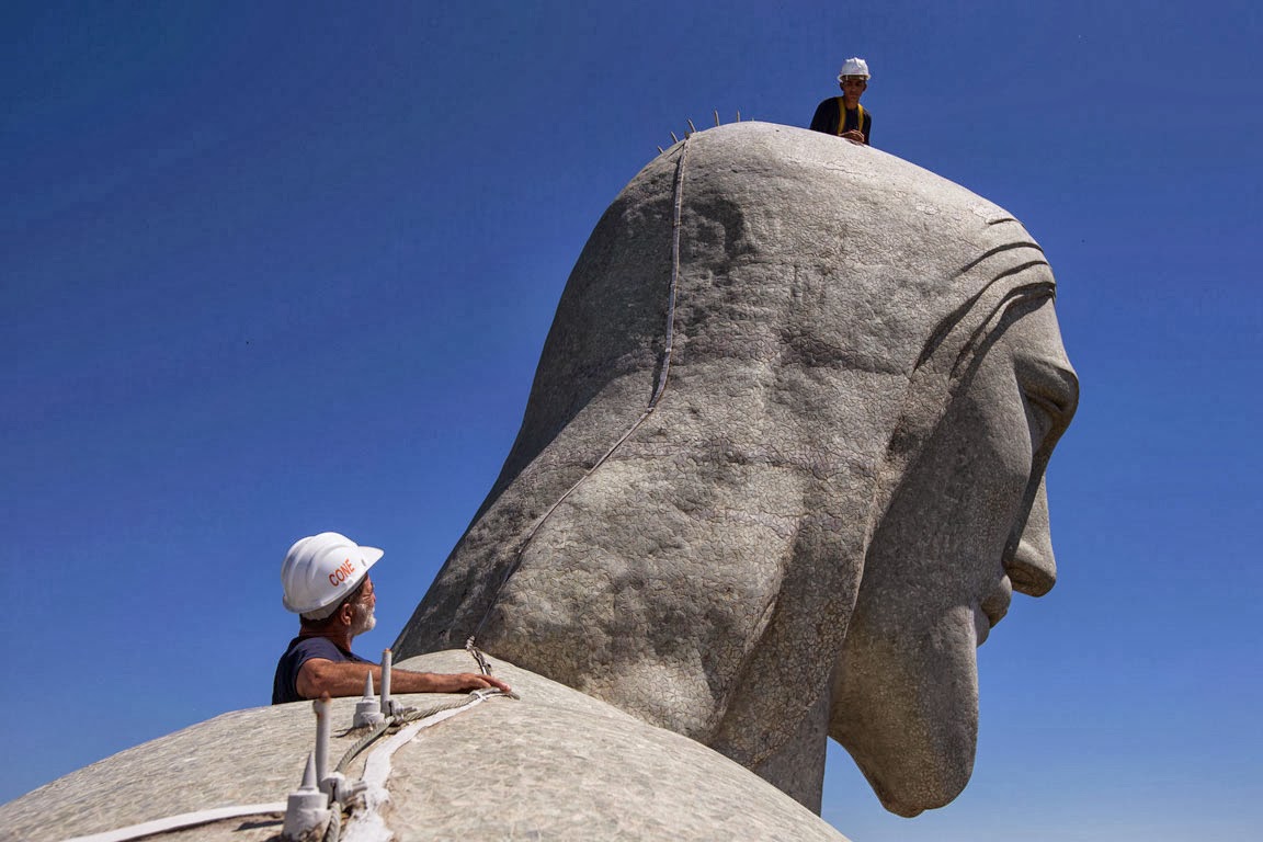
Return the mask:
<svg viewBox="0 0 1263 842">
<path fill-rule="evenodd" d="M 975 649 L 1056 581 L 1043 472 L 1077 381 L 1053 300 L 1017 220 L 880 150 L 744 122 L 650 162 L 395 644 L 469 672 L 475 636 L 522 698 L 394 755 L 394 838 L 840 839 L 813 813 L 829 737 L 893 812 L 955 798 Z M 313 735 L 306 703 L 216 717 L 0 807 L 0 839 L 284 800 Z"/>
</svg>

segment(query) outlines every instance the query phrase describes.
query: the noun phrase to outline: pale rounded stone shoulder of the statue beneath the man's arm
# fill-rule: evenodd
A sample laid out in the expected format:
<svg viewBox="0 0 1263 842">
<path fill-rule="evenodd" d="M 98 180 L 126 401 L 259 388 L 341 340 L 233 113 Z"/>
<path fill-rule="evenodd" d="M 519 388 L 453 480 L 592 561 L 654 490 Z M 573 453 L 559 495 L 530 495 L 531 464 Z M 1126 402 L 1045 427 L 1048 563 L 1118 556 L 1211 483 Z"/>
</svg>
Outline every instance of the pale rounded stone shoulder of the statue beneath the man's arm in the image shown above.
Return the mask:
<svg viewBox="0 0 1263 842">
<path fill-rule="evenodd" d="M 464 651 L 400 667 L 467 672 Z M 496 663 L 520 701 L 493 698 L 421 731 L 393 759 L 386 827 L 421 839 L 818 839 L 834 828 L 758 776 L 671 731 Z M 461 697 L 399 697 L 418 707 Z M 335 699 L 333 733 L 355 699 Z M 283 802 L 314 737 L 307 703 L 237 711 L 129 749 L 0 807 L 0 839 L 53 842 L 177 813 Z M 355 736 L 335 738 L 336 762 Z M 362 770 L 359 760 L 352 778 Z M 162 839 L 263 842 L 277 815 Z"/>
</svg>

